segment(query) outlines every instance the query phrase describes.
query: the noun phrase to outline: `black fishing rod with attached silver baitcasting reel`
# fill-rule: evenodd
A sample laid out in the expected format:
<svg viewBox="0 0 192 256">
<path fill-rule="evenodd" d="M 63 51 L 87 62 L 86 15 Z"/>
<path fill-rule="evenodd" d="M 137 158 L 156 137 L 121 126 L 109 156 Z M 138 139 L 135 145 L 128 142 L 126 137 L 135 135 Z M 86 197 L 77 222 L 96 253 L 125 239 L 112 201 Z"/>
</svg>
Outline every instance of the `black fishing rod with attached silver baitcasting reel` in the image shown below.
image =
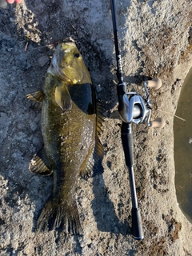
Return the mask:
<svg viewBox="0 0 192 256">
<path fill-rule="evenodd" d="M 148 126 L 163 127 L 165 122 L 162 118 L 150 121 L 151 102 L 150 94 L 147 86 L 157 90 L 162 86 L 160 79 L 155 78 L 150 81 L 142 82 L 144 97 L 137 92 L 126 92 L 126 83 L 123 82 L 122 61 L 118 46 L 118 29 L 116 22 L 116 12 L 114 0 L 110 0 L 111 15 L 114 28 L 114 46 L 117 61 L 117 77 L 118 77 L 118 112 L 122 118 L 121 138 L 122 146 L 125 154 L 126 166 L 129 170 L 130 192 L 132 201 L 132 234 L 135 239 L 142 240 L 144 238 L 142 230 L 142 218 L 138 209 L 138 200 L 134 182 L 134 146 L 131 122 L 136 124 L 147 122 Z"/>
</svg>

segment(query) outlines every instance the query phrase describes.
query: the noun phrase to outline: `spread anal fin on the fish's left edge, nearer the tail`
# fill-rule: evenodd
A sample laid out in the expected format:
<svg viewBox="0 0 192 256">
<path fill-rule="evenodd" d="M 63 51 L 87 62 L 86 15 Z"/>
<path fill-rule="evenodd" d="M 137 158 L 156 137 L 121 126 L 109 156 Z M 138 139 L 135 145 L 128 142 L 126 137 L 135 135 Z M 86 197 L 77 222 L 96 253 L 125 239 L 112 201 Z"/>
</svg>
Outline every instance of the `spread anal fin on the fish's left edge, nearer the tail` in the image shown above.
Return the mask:
<svg viewBox="0 0 192 256">
<path fill-rule="evenodd" d="M 38 151 L 37 154 L 34 154 L 34 157 L 30 161 L 29 170 L 34 174 L 52 174 L 52 170 L 50 170 L 49 161 L 43 147 L 41 150 Z"/>
</svg>

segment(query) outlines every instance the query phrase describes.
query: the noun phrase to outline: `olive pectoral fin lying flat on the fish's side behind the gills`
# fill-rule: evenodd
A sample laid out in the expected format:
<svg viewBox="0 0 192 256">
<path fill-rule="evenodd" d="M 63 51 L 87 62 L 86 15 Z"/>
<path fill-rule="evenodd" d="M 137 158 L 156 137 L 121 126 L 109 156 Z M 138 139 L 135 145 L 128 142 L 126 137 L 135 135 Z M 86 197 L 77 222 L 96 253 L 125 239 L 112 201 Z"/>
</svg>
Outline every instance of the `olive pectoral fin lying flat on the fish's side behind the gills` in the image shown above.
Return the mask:
<svg viewBox="0 0 192 256">
<path fill-rule="evenodd" d="M 57 86 L 54 91 L 55 102 L 57 102 L 58 106 L 62 108 L 62 110 L 70 110 L 72 106 L 70 93 L 67 90 L 65 85 Z"/>
</svg>

